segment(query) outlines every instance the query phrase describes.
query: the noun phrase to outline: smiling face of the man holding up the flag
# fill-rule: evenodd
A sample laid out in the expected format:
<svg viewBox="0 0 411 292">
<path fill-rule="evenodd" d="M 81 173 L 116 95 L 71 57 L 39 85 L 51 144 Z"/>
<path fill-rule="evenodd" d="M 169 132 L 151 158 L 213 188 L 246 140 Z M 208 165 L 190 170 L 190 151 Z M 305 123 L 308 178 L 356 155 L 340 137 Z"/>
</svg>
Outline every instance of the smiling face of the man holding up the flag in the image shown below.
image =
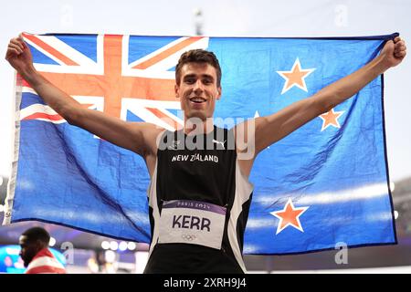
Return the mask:
<svg viewBox="0 0 411 292">
<path fill-rule="evenodd" d="M 216 68 L 207 63 L 187 63 L 181 68 L 180 84 L 175 85 L 184 118 L 211 118 L 221 87 L 216 85 Z"/>
</svg>

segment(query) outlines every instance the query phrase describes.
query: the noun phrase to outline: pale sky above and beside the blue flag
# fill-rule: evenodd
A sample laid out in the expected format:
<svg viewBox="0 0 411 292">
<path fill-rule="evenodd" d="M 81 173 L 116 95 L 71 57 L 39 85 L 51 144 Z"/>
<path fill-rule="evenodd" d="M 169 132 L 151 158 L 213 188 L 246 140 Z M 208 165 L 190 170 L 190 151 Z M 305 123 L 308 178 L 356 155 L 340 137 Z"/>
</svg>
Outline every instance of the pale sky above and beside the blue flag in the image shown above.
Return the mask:
<svg viewBox="0 0 411 292">
<path fill-rule="evenodd" d="M 14 70 L 8 40 L 30 33 L 195 34 L 195 9 L 206 36 L 374 36 L 400 32 L 411 47 L 407 0 L 47 1 L 2 3 L 0 12 L 0 174 L 9 176 L 13 149 Z M 385 125 L 391 179 L 411 176 L 411 63 L 385 73 Z"/>
</svg>

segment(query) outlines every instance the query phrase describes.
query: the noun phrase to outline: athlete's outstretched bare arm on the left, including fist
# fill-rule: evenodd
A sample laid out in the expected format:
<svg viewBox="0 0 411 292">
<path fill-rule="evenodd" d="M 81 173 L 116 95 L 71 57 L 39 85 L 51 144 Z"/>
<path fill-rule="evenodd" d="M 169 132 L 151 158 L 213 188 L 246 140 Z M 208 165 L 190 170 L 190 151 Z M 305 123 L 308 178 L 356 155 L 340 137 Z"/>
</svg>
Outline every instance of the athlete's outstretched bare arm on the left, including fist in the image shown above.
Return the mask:
<svg viewBox="0 0 411 292">
<path fill-rule="evenodd" d="M 143 157 L 155 154 L 155 138 L 162 130 L 145 122 L 130 123 L 83 108 L 76 99 L 55 87 L 33 66 L 33 57 L 22 36 L 12 38 L 5 59 L 26 79 L 30 86 L 68 123 L 89 130 L 100 138 Z"/>
</svg>

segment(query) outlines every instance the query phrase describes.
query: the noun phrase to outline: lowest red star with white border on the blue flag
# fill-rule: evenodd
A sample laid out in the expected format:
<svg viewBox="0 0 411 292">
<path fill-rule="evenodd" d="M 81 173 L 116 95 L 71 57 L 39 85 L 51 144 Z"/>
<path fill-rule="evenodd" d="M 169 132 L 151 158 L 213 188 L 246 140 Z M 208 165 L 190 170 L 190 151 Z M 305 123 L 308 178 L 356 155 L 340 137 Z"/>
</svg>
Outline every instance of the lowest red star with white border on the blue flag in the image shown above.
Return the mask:
<svg viewBox="0 0 411 292">
<path fill-rule="evenodd" d="M 273 216 L 279 218 L 276 235 L 278 235 L 288 226 L 292 226 L 300 230 L 300 232 L 304 232 L 300 223 L 300 215 L 307 211 L 308 208 L 309 207 L 295 208 L 291 201 L 291 198 L 289 198 L 289 201 L 287 201 L 284 209 L 280 211 L 270 212 L 269 214 L 272 214 Z"/>
</svg>

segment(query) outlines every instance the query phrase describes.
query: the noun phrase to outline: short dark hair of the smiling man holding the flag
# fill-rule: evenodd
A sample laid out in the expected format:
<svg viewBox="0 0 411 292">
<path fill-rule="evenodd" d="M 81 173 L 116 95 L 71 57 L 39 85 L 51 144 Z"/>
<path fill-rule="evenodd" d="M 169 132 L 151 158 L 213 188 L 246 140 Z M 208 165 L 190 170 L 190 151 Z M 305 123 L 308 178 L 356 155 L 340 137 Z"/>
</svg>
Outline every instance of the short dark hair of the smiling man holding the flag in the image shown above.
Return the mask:
<svg viewBox="0 0 411 292">
<path fill-rule="evenodd" d="M 184 52 L 178 60 L 177 66 L 175 67 L 175 82 L 180 84 L 181 78 L 181 68 L 187 63 L 205 63 L 216 68 L 216 85 L 221 86 L 221 68 L 216 55 L 213 52 L 206 51 L 205 49 L 196 48 Z"/>
</svg>

